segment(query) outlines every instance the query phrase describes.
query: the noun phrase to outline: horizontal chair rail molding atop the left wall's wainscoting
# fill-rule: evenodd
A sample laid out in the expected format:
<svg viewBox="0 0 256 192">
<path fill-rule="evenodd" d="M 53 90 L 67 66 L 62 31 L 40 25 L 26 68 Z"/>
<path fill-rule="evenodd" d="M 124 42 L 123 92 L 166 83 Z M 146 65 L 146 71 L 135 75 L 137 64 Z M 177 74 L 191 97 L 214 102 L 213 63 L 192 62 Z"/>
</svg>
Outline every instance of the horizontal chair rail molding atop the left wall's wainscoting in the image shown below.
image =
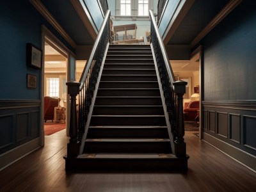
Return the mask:
<svg viewBox="0 0 256 192">
<path fill-rule="evenodd" d="M 40 107 L 41 100 L 11 100 L 1 99 L 0 109 L 32 108 Z"/>
</svg>

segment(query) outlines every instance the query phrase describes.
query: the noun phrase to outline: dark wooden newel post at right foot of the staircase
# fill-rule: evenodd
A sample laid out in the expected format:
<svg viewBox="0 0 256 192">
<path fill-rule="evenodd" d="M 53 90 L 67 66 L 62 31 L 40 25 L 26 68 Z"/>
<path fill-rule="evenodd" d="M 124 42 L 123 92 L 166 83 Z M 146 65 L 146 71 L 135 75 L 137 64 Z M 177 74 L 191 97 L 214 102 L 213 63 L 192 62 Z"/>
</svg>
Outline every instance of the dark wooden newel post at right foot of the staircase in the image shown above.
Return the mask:
<svg viewBox="0 0 256 192">
<path fill-rule="evenodd" d="M 173 83 L 174 92 L 177 95 L 176 108 L 176 135 L 175 135 L 175 156 L 186 157 L 186 143 L 184 143 L 184 118 L 183 118 L 183 95 L 186 93 L 185 81 L 175 81 Z"/>
</svg>

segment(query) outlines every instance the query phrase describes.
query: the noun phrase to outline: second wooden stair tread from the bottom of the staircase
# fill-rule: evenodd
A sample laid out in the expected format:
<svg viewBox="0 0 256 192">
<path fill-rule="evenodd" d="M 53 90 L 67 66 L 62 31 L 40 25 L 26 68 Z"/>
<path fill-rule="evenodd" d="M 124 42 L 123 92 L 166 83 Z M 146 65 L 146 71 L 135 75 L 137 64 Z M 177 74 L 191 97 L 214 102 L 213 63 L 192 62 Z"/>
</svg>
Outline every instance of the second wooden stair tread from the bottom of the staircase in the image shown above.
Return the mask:
<svg viewBox="0 0 256 192">
<path fill-rule="evenodd" d="M 166 138 L 92 138 L 86 142 L 170 142 Z"/>
</svg>

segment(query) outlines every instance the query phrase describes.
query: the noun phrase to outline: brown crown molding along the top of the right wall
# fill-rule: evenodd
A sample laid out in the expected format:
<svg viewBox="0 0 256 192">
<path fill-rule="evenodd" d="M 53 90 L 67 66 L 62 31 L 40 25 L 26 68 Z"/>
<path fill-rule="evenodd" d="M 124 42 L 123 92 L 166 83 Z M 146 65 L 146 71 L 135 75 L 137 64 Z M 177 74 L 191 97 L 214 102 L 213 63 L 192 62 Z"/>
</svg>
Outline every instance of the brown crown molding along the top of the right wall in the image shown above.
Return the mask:
<svg viewBox="0 0 256 192">
<path fill-rule="evenodd" d="M 229 3 L 207 24 L 207 26 L 194 38 L 190 43 L 191 47 L 194 47 L 205 35 L 207 35 L 213 28 L 215 28 L 221 20 L 236 8 L 243 0 L 230 0 Z"/>
</svg>

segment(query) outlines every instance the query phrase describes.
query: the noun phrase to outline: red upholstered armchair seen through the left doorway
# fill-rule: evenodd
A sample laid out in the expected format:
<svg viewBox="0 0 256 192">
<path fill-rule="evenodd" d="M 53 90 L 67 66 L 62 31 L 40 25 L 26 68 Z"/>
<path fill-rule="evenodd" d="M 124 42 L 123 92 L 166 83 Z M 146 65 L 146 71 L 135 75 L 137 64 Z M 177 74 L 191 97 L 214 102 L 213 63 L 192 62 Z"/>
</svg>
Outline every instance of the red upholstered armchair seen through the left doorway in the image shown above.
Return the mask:
<svg viewBox="0 0 256 192">
<path fill-rule="evenodd" d="M 60 98 L 44 97 L 44 122 L 54 119 L 54 108 L 59 106 Z"/>
</svg>

